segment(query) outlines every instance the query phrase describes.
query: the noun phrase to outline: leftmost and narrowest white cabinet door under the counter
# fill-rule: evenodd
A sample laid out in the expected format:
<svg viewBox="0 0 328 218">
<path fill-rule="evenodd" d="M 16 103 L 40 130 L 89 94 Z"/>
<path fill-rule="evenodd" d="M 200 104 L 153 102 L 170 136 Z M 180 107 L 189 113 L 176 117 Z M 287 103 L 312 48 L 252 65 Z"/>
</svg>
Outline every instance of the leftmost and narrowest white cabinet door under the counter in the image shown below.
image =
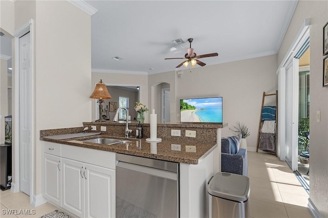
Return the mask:
<svg viewBox="0 0 328 218">
<path fill-rule="evenodd" d="M 60 157 L 44 154 L 45 157 L 45 197 L 61 206 L 61 163 Z"/>
</svg>

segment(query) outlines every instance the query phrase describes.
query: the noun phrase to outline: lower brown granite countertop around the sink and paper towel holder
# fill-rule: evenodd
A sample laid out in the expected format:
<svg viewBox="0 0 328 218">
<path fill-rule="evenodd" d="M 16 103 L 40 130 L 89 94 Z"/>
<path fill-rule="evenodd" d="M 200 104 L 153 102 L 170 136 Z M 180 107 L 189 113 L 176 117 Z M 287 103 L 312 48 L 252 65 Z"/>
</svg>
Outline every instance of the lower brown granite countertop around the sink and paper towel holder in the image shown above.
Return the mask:
<svg viewBox="0 0 328 218">
<path fill-rule="evenodd" d="M 117 145 L 105 145 L 91 142 L 83 142 L 87 139 L 94 139 L 98 137 L 102 138 L 115 138 L 122 140 L 129 140 L 125 144 Z M 187 163 L 187 164 L 198 164 L 206 156 L 212 152 L 217 145 L 214 143 L 201 143 L 201 142 L 188 142 L 188 141 L 174 141 L 169 139 L 162 139 L 158 143 L 149 143 L 146 139 L 134 139 L 134 138 L 120 138 L 111 137 L 108 135 L 97 135 L 89 137 L 80 137 L 68 140 L 55 140 L 40 137 L 40 140 L 67 144 L 79 147 L 86 147 L 104 151 L 111 151 L 120 154 L 134 155 L 139 157 L 153 158 L 158 160 Z M 172 148 L 179 148 L 180 150 L 173 150 Z"/>
</svg>

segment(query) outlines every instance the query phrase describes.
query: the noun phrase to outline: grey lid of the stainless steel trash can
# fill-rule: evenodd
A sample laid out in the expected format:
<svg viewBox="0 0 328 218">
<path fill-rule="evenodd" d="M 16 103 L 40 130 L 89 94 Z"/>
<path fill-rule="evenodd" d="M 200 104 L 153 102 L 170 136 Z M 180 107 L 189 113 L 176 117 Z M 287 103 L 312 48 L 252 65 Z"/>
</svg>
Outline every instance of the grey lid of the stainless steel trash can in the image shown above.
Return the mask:
<svg viewBox="0 0 328 218">
<path fill-rule="evenodd" d="M 218 198 L 247 201 L 250 197 L 250 179 L 229 172 L 218 172 L 210 181 L 208 192 Z"/>
</svg>

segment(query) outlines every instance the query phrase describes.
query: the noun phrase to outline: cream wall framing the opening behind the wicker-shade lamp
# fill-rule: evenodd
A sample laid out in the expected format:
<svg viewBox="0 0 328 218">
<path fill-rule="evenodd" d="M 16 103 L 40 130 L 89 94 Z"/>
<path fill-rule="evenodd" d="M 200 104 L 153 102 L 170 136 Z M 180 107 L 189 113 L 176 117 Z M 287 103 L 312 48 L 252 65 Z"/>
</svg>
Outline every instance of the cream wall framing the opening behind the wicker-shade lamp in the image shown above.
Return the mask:
<svg viewBox="0 0 328 218">
<path fill-rule="evenodd" d="M 100 81 L 100 79 L 103 80 L 103 82 L 107 85 L 133 85 L 133 86 L 139 86 L 139 92 L 140 92 L 140 101 L 143 104 L 146 104 L 149 107 L 148 104 L 148 75 L 138 75 L 138 74 L 122 74 L 122 73 L 92 73 L 92 91 L 95 87 L 95 84 Z M 90 91 L 89 96 L 91 95 L 92 91 Z M 92 120 L 95 120 L 95 102 L 97 100 L 92 99 Z M 132 108 L 132 105 L 130 105 Z M 134 107 L 134 106 L 133 106 Z M 131 110 L 131 109 L 130 109 Z M 146 114 L 147 115 L 147 114 Z M 131 116 L 133 119 L 133 117 Z M 111 117 L 112 119 L 112 117 Z M 84 120 L 88 121 L 88 120 Z M 149 121 L 148 116 L 145 116 L 145 122 Z"/>
</svg>

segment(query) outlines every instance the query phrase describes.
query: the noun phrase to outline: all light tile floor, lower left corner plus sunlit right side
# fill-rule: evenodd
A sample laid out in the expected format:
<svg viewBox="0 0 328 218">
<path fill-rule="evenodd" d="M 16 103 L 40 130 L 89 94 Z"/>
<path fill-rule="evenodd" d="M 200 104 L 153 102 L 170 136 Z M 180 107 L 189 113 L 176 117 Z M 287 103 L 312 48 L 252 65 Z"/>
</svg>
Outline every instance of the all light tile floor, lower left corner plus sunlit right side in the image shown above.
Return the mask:
<svg viewBox="0 0 328 218">
<path fill-rule="evenodd" d="M 251 181 L 250 209 L 253 218 L 311 218 L 308 198 L 290 167 L 274 155 L 248 152 L 248 177 Z M 22 192 L 0 191 L 0 217 L 40 217 L 57 208 L 43 204 L 36 208 L 29 204 L 29 196 Z M 34 215 L 8 215 L 3 209 L 35 209 Z"/>
</svg>

